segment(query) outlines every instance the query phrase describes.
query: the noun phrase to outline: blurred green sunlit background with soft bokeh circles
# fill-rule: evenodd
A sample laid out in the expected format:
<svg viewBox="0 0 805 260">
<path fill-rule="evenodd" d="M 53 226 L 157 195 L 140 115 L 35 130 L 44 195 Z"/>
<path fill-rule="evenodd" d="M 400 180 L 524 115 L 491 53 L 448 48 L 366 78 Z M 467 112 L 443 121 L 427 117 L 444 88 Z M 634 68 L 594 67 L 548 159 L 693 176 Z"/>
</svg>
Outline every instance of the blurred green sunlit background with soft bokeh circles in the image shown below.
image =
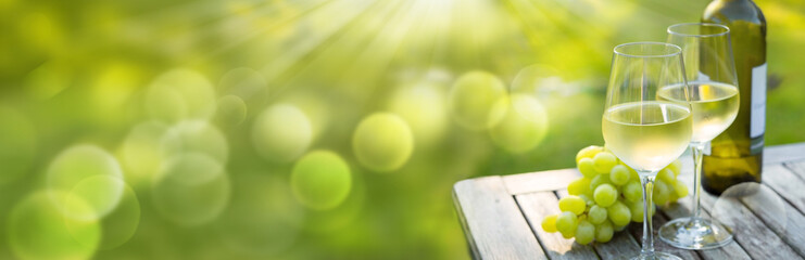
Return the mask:
<svg viewBox="0 0 805 260">
<path fill-rule="evenodd" d="M 766 143 L 803 142 L 805 4 L 756 2 L 768 22 Z M 121 204 L 120 211 L 99 220 L 106 233 L 138 225 L 122 246 L 95 251 L 97 259 L 468 258 L 452 184 L 479 176 L 573 167 L 578 150 L 603 143 L 600 118 L 612 48 L 664 41 L 668 25 L 699 21 L 706 4 L 0 0 L 0 259 L 18 257 L 11 249 L 15 222 L 10 212 L 30 196 L 41 205 L 39 192 L 48 188 L 50 162 L 78 144 L 113 155 L 139 202 Z M 196 75 L 189 87 L 178 87 L 185 88 L 178 95 L 149 94 L 161 75 L 177 68 Z M 513 154 L 498 146 L 489 131 L 455 120 L 448 109 L 450 91 L 471 70 L 491 73 L 508 93 L 539 101 L 548 115 L 542 142 Z M 424 98 L 399 94 L 412 86 L 427 86 Z M 171 114 L 176 99 L 190 104 L 184 114 Z M 410 103 L 414 105 L 406 109 Z M 307 122 L 297 113 L 277 115 L 267 120 L 274 126 L 259 129 L 281 129 L 288 120 L 289 126 L 309 127 L 310 134 L 272 130 L 280 135 L 255 144 L 257 116 L 276 104 L 295 106 Z M 209 107 L 215 113 L 204 114 Z M 352 140 L 361 120 L 382 112 L 401 114 L 414 143 L 402 167 L 376 172 L 357 159 L 360 147 Z M 214 130 L 167 143 L 205 152 L 225 165 L 223 176 L 212 178 L 228 187 L 215 190 L 223 192 L 173 190 L 199 191 L 210 202 L 225 202 L 217 217 L 204 223 L 165 218 L 155 205 L 167 198 L 153 193 L 160 177 L 136 174 L 159 171 L 171 154 L 154 152 L 171 135 L 165 129 L 187 126 L 187 119 L 201 120 L 191 125 L 206 121 Z M 129 135 L 133 129 L 139 135 Z M 276 159 L 271 158 L 274 152 L 266 156 L 255 147 L 274 141 L 282 146 L 268 151 L 304 152 Z M 126 147 L 130 151 L 122 152 Z M 305 207 L 290 184 L 295 161 L 316 150 L 336 153 L 350 168 L 349 195 L 331 209 Z M 215 211 L 197 199 L 185 206 Z M 25 207 L 35 207 L 30 205 Z M 26 227 L 37 230 L 14 226 L 20 232 Z M 120 237 L 126 234 L 114 236 Z"/>
</svg>

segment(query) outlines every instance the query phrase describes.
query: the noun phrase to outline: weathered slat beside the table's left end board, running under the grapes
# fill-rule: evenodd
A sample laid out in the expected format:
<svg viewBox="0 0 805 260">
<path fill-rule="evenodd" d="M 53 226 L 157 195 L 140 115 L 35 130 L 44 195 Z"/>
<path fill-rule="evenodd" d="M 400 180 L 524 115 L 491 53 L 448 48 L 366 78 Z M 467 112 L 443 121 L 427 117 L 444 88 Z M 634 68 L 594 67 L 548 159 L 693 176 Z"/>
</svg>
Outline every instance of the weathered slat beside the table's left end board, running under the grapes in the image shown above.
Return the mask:
<svg viewBox="0 0 805 260">
<path fill-rule="evenodd" d="M 592 247 L 579 245 L 575 239 L 565 239 L 562 234 L 548 233 L 542 230 L 545 216 L 559 213 L 558 199 L 553 192 L 537 192 L 516 195 L 515 199 L 523 210 L 531 230 L 539 237 L 545 252 L 551 259 L 595 259 Z"/>
</svg>

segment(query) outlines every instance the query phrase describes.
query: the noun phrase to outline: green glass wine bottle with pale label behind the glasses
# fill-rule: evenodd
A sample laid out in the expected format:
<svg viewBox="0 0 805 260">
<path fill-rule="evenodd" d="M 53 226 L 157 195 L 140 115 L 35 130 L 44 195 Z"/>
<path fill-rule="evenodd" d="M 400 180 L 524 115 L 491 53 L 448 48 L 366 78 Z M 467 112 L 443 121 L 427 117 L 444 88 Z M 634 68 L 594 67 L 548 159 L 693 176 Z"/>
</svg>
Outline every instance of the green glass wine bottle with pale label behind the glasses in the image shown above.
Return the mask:
<svg viewBox="0 0 805 260">
<path fill-rule="evenodd" d="M 710 142 L 702 186 L 714 195 L 741 182 L 760 182 L 766 120 L 766 18 L 752 0 L 715 0 L 704 23 L 730 28 L 740 108 L 732 126 Z"/>
</svg>

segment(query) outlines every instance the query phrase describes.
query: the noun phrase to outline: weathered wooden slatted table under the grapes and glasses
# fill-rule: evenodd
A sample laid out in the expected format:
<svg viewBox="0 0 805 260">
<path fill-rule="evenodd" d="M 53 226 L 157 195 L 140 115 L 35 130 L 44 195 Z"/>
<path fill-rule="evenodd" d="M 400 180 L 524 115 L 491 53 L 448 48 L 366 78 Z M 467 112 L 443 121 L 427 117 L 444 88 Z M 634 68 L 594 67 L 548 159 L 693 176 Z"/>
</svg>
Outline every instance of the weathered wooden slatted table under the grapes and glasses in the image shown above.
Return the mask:
<svg viewBox="0 0 805 260">
<path fill-rule="evenodd" d="M 692 185 L 692 168 L 690 156 L 683 156 L 680 178 L 689 185 Z M 576 169 L 564 169 L 457 182 L 453 186 L 453 202 L 473 258 L 622 259 L 638 255 L 640 223 L 616 233 L 609 243 L 590 245 L 542 231 L 542 218 L 559 212 L 558 198 L 567 195 L 565 187 L 580 176 Z M 734 207 L 718 207 L 726 209 L 719 216 L 730 216 L 734 221 L 735 242 L 718 249 L 694 251 L 672 248 L 656 238 L 655 249 L 682 259 L 804 259 L 805 143 L 766 147 L 763 184 L 779 199 L 769 204 L 744 200 Z M 668 219 L 689 216 L 690 199 L 688 196 L 662 208 L 654 216 L 655 233 Z M 703 193 L 704 217 L 709 217 L 716 202 L 717 197 Z M 763 210 L 773 203 L 784 212 Z"/>
</svg>

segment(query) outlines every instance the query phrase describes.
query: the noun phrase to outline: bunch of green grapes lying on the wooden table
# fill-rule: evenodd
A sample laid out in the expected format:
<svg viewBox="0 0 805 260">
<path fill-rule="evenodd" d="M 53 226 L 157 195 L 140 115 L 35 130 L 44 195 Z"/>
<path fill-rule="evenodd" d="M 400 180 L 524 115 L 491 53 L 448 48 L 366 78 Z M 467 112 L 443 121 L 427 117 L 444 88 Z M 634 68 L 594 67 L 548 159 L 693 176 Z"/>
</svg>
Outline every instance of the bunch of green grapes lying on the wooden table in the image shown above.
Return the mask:
<svg viewBox="0 0 805 260">
<path fill-rule="evenodd" d="M 576 165 L 583 176 L 567 185 L 566 197 L 559 199 L 562 213 L 542 220 L 545 232 L 559 232 L 576 243 L 606 243 L 614 232 L 631 222 L 643 222 L 643 194 L 638 172 L 626 166 L 604 147 L 591 145 L 576 155 Z M 653 202 L 666 205 L 688 195 L 680 180 L 681 162 L 677 159 L 657 173 L 653 183 Z M 654 216 L 655 207 L 651 213 Z"/>
</svg>

